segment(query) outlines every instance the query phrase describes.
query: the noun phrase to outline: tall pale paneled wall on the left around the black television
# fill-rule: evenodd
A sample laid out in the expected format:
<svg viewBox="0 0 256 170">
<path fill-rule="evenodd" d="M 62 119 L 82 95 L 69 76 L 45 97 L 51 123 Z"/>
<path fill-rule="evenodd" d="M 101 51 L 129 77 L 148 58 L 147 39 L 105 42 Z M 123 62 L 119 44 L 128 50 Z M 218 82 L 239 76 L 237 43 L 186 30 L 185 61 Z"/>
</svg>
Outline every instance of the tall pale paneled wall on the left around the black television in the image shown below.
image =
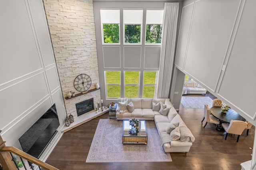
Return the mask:
<svg viewBox="0 0 256 170">
<path fill-rule="evenodd" d="M 66 111 L 42 0 L 0 2 L 1 136 L 21 149 L 18 139 L 54 103 L 58 133 L 45 150 L 45 160 L 61 137 Z M 4 26 L 3 26 L 4 25 Z"/>
</svg>

